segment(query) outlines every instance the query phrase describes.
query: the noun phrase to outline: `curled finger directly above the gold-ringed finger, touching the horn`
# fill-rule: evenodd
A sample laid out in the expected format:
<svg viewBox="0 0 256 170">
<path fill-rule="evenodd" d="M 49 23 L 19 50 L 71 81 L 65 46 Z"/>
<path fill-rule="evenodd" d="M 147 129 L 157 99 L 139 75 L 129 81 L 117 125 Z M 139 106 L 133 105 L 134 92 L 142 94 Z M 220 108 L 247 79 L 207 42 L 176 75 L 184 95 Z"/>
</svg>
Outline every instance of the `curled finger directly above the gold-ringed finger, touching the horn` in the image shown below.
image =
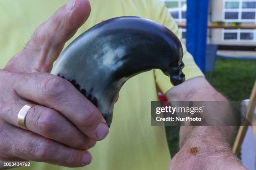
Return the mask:
<svg viewBox="0 0 256 170">
<path fill-rule="evenodd" d="M 100 111 L 67 80 L 48 73 L 14 77 L 13 88 L 20 97 L 53 108 L 93 140 L 108 135 L 109 128 Z"/>
</svg>

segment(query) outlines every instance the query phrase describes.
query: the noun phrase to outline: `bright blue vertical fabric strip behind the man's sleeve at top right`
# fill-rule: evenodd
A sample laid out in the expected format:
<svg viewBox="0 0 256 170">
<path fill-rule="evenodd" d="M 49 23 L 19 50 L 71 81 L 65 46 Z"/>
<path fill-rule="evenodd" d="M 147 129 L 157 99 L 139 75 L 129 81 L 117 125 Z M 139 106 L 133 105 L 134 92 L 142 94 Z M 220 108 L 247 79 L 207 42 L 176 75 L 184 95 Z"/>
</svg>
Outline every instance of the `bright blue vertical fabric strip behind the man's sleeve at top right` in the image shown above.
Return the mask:
<svg viewBox="0 0 256 170">
<path fill-rule="evenodd" d="M 187 50 L 205 73 L 209 0 L 187 0 Z"/>
</svg>

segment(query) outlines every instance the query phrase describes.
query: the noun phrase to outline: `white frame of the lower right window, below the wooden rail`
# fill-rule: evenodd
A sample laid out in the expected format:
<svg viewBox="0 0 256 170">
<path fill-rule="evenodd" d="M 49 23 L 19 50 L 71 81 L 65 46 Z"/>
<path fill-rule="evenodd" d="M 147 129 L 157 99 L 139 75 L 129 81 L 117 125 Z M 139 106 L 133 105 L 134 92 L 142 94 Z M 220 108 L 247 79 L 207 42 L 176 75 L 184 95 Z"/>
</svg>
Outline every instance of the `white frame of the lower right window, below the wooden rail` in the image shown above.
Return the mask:
<svg viewBox="0 0 256 170">
<path fill-rule="evenodd" d="M 253 33 L 253 39 L 252 40 L 241 40 L 240 34 L 241 33 Z M 225 33 L 237 33 L 237 39 L 234 40 L 225 40 L 224 39 L 224 34 Z M 256 42 L 256 29 L 255 30 L 241 30 L 241 29 L 236 29 L 236 30 L 225 30 L 222 29 L 222 41 L 232 41 L 232 42 Z"/>
</svg>

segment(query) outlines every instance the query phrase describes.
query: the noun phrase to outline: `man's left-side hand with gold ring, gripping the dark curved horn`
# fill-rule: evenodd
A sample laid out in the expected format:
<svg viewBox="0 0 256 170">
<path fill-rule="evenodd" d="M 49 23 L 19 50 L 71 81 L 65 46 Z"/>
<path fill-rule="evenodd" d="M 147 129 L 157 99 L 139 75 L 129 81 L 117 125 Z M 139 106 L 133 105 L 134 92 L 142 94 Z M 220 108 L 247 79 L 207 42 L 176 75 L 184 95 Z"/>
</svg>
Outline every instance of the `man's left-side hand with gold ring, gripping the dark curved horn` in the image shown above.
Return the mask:
<svg viewBox="0 0 256 170">
<path fill-rule="evenodd" d="M 100 111 L 70 82 L 49 74 L 65 42 L 89 15 L 88 0 L 59 8 L 0 70 L 0 161 L 81 167 L 91 162 L 87 150 L 108 135 Z M 17 117 L 28 102 L 37 105 L 29 110 L 24 130 Z"/>
</svg>

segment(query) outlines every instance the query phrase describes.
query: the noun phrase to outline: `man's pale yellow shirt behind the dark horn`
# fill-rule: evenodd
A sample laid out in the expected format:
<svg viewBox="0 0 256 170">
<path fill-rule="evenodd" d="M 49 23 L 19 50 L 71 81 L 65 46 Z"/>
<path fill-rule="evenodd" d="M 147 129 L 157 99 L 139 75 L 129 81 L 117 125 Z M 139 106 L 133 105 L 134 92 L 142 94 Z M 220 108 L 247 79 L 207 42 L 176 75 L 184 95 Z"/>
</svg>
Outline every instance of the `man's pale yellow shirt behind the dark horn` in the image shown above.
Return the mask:
<svg viewBox="0 0 256 170">
<path fill-rule="evenodd" d="M 0 67 L 17 54 L 35 28 L 67 0 L 0 0 Z M 178 27 L 160 0 L 90 0 L 91 15 L 66 46 L 102 20 L 133 15 L 155 20 L 179 38 Z M 65 46 L 65 47 L 66 47 Z M 192 56 L 184 49 L 186 79 L 202 76 Z M 166 93 L 172 85 L 160 70 L 151 70 L 128 80 L 115 104 L 110 133 L 90 149 L 92 163 L 79 170 L 165 170 L 170 163 L 164 127 L 151 126 L 151 100 L 158 100 L 156 86 Z M 76 140 L 76 139 L 74 139 Z M 24 168 L 22 168 L 24 169 Z M 31 162 L 31 170 L 69 168 Z"/>
</svg>

